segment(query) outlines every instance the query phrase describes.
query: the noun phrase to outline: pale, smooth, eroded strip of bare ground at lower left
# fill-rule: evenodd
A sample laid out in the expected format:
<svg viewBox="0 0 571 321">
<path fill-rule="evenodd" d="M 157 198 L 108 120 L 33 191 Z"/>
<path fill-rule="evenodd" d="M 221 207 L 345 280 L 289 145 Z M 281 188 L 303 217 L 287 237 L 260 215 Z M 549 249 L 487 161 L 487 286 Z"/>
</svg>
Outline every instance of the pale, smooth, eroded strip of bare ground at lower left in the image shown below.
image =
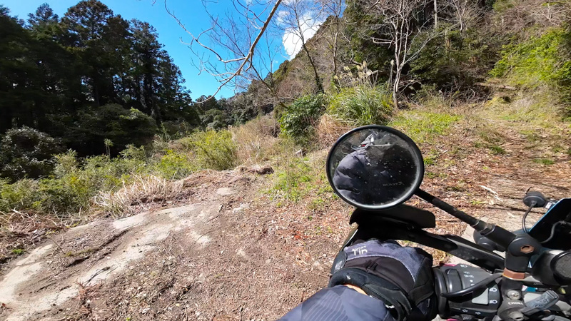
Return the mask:
<svg viewBox="0 0 571 321">
<path fill-rule="evenodd" d="M 188 240 L 201 246 L 208 244 L 210 238 L 203 235 L 204 223 L 217 215 L 221 206 L 216 201 L 185 205 L 79 226 L 59 235 L 55 241 L 59 245 L 50 241 L 32 251 L 14 263 L 0 282 L 0 301 L 15 308 L 7 313 L 6 320 L 38 317 L 50 307 L 78 296 L 81 289 L 121 275 L 170 233 L 186 233 Z M 76 250 L 58 253 L 63 251 L 59 247 Z"/>
</svg>

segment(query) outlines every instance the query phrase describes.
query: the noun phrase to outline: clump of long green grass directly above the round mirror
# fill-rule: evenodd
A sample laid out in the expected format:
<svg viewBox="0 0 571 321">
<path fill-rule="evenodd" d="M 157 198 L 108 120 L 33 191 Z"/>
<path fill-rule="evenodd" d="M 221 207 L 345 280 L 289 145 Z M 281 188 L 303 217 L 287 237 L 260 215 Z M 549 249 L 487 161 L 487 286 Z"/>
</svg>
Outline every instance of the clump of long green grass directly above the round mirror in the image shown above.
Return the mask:
<svg viewBox="0 0 571 321">
<path fill-rule="evenodd" d="M 386 125 L 393 113 L 391 94 L 383 87 L 343 88 L 331 99 L 328 113 L 354 126 Z"/>
</svg>

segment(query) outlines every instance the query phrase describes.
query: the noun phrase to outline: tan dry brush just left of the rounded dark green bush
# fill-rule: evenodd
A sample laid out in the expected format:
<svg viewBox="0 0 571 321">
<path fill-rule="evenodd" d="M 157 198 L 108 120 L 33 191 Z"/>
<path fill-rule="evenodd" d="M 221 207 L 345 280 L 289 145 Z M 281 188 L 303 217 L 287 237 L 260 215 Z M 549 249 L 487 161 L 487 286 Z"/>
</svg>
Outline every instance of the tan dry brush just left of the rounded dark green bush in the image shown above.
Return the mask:
<svg viewBox="0 0 571 321">
<path fill-rule="evenodd" d="M 280 127 L 272 116 L 256 118 L 242 126 L 233 127 L 230 131 L 238 145 L 238 163 L 258 164 L 278 153 Z"/>
</svg>

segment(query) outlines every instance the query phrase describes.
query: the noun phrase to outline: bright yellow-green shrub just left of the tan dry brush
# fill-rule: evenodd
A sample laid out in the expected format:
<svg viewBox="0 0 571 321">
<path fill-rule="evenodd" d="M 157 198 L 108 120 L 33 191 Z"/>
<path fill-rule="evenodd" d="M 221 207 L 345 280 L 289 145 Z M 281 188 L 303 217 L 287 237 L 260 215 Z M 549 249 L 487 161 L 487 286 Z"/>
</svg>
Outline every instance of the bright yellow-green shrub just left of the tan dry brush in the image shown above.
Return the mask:
<svg viewBox="0 0 571 321">
<path fill-rule="evenodd" d="M 198 168 L 226 170 L 236 166 L 236 143 L 230 131 L 200 131 L 180 141 L 193 152 Z"/>
</svg>

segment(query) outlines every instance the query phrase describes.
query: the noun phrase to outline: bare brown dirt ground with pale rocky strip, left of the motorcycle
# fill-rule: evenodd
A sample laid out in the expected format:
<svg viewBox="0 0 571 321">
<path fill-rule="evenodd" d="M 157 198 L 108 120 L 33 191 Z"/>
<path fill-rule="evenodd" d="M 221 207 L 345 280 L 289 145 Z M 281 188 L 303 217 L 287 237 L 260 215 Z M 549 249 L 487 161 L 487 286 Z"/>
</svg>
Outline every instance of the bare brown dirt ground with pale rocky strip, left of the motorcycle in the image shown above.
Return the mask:
<svg viewBox="0 0 571 321">
<path fill-rule="evenodd" d="M 203 173 L 174 208 L 82 225 L 14 260 L 0 320 L 271 320 L 327 281 L 340 237 L 310 240 L 255 173 Z M 323 221 L 343 222 L 332 215 Z M 343 232 L 341 232 L 343 233 Z M 331 235 L 328 235 L 331 237 Z M 308 254 L 303 245 L 308 245 Z"/>
</svg>

